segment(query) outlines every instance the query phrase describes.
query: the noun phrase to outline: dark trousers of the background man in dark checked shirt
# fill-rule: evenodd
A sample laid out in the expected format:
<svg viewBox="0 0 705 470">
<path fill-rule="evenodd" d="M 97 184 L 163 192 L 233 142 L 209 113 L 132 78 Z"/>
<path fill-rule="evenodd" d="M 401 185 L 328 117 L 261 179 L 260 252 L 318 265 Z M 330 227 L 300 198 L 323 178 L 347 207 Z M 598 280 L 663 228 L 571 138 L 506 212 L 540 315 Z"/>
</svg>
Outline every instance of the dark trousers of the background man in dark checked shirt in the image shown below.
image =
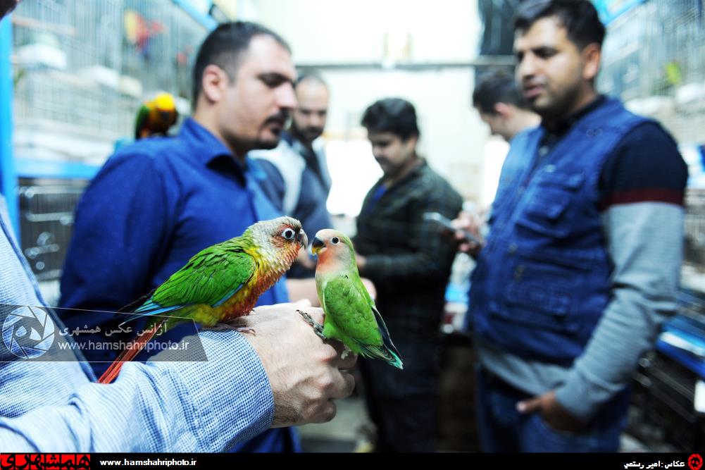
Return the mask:
<svg viewBox="0 0 705 470">
<path fill-rule="evenodd" d="M 441 345 L 393 337 L 399 370 L 360 358 L 367 411 L 377 428 L 377 452 L 434 452 Z"/>
</svg>

